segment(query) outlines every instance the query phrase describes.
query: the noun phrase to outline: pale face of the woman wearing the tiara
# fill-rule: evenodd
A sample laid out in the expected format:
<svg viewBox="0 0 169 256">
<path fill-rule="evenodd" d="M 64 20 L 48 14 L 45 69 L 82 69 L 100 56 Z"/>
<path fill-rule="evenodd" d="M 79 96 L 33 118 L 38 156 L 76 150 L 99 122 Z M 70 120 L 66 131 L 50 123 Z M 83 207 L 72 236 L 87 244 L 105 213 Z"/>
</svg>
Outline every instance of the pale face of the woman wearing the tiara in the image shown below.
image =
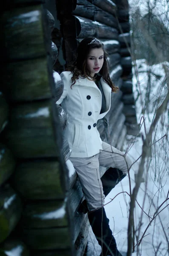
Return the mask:
<svg viewBox="0 0 169 256">
<path fill-rule="evenodd" d="M 100 69 L 103 66 L 103 49 L 94 48 L 90 50 L 89 55 L 87 56 L 87 69 L 90 72 L 91 76 L 94 76 L 96 73 L 99 73 Z"/>
</svg>

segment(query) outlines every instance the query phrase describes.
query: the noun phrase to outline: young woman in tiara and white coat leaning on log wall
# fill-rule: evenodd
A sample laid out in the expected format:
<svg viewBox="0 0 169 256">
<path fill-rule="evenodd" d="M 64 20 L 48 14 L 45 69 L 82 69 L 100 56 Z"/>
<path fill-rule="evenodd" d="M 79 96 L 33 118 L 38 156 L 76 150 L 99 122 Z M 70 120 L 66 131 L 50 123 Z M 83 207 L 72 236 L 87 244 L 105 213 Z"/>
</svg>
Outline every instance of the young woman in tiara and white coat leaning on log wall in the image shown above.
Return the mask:
<svg viewBox="0 0 169 256">
<path fill-rule="evenodd" d="M 64 90 L 57 104 L 68 114 L 64 135 L 72 150 L 70 160 L 86 198 L 89 222 L 102 247 L 100 255 L 122 256 L 103 208 L 105 195 L 99 166 L 118 168 L 126 174 L 126 160 L 129 166 L 131 161 L 129 157 L 125 160 L 121 151 L 102 142 L 97 131 L 98 119 L 110 109 L 111 93 L 118 90 L 109 76 L 103 44 L 93 37 L 83 39 L 77 48 L 77 59 L 69 70 L 60 75 Z"/>
</svg>

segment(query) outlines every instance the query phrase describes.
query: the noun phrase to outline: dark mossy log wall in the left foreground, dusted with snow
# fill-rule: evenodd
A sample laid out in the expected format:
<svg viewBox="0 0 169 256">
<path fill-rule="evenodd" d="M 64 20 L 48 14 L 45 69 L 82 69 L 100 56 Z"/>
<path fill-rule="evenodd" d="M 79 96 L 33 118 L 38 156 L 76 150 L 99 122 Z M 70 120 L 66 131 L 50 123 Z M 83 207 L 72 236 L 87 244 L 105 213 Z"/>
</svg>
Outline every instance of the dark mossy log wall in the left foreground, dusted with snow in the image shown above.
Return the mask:
<svg viewBox="0 0 169 256">
<path fill-rule="evenodd" d="M 74 256 L 54 19 L 43 0 L 7 2 L 0 13 L 0 255 Z"/>
</svg>

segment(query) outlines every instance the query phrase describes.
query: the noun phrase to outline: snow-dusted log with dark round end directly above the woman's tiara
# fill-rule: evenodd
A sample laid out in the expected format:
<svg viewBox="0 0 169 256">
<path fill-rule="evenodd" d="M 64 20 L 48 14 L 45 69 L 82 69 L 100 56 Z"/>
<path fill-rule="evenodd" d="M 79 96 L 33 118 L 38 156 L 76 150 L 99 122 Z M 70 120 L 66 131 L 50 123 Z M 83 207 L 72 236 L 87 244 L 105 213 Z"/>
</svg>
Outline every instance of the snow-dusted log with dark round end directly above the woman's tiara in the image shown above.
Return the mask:
<svg viewBox="0 0 169 256">
<path fill-rule="evenodd" d="M 76 27 L 76 31 L 75 28 Z M 111 38 L 117 40 L 117 29 L 106 26 L 97 21 L 92 21 L 78 16 L 66 16 L 62 21 L 63 38 L 86 38 L 95 36 L 97 38 Z"/>
</svg>

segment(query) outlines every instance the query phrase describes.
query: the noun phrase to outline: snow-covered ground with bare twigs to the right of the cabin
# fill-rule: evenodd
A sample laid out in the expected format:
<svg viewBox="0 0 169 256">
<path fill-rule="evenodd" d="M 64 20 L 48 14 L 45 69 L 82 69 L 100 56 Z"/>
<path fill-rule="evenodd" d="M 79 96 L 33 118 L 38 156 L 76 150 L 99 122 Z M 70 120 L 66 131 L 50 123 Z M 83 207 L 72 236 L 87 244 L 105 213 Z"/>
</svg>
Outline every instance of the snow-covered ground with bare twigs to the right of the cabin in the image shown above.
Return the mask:
<svg viewBox="0 0 169 256">
<path fill-rule="evenodd" d="M 166 84 L 163 83 L 165 74 L 162 64 L 148 66 L 145 60 L 137 60 L 135 68 L 133 67 L 133 74 L 135 70 L 137 70 L 138 74 L 137 78 L 135 75 L 133 76 L 137 121 L 140 122 L 143 116 L 146 130 L 144 125 L 142 125 L 140 130 L 142 136 L 136 138 L 134 145 L 128 153 L 133 160 L 136 160 L 137 157 L 140 156 L 143 145 L 142 140 L 146 136 L 145 131 L 149 131 L 149 127 L 155 116 L 155 110 L 159 107 L 167 93 Z M 149 71 L 149 77 L 147 71 Z M 159 140 L 165 134 L 169 136 L 169 106 L 168 110 L 161 116 L 155 128 L 152 143 L 155 143 L 155 141 Z M 135 230 L 137 230 L 137 237 L 135 236 L 135 244 L 140 240 L 151 218 L 153 218 L 155 211 L 166 199 L 169 191 L 169 137 L 167 136 L 152 146 L 152 155 L 146 160 L 145 172 L 143 174 L 144 182 L 141 183 L 137 195 L 137 202 L 145 213 L 140 209 L 138 204 L 136 204 Z M 127 139 L 123 148 L 124 151 L 131 137 Z M 130 171 L 132 189 L 135 186 L 135 174 L 138 171 L 138 167 L 139 161 L 135 163 Z M 117 195 L 122 191 L 124 191 L 123 194 Z M 127 228 L 130 201 L 129 195 L 127 195 L 126 192 L 129 193 L 128 177 L 123 179 L 121 183 L 112 189 L 106 197 L 106 203 L 111 201 L 111 198 L 114 198 L 115 195 L 117 195 L 117 197 L 105 206 L 106 214 L 110 221 L 109 225 L 117 242 L 117 248 L 123 256 L 126 256 L 127 252 Z M 160 210 L 166 207 L 167 203 L 169 204 L 169 200 L 163 204 Z M 167 250 L 169 250 L 169 206 L 163 209 L 155 220 L 152 221 L 140 246 L 135 247 L 135 252 L 132 253 L 132 256 L 168 256 L 169 251 Z M 101 248 L 90 229 L 87 256 L 100 256 L 100 252 Z"/>
</svg>

